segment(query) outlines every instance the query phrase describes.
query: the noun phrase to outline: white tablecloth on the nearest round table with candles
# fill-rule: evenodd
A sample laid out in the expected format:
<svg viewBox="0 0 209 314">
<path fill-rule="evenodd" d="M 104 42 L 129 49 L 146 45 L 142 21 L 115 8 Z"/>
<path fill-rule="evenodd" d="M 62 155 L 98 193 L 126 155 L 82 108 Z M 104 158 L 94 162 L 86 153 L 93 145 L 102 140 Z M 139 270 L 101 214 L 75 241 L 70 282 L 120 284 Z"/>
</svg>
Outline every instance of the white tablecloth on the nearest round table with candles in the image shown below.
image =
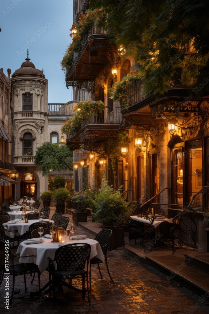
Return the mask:
<svg viewBox="0 0 209 314">
<path fill-rule="evenodd" d="M 21 242 L 18 246 L 17 255 L 20 256 L 29 256 L 34 255 L 34 257 L 20 257 L 19 262 L 20 263 L 35 263 L 38 265 L 38 268 L 41 273 L 44 272 L 44 270 L 49 265 L 48 257 L 54 259 L 55 258 L 55 252 L 58 249 L 58 243 L 51 242 L 51 239 L 47 239 L 42 237 L 41 239 L 44 240 L 44 243 L 38 243 L 38 244 L 24 244 L 24 241 Z M 99 242 L 92 239 L 83 239 L 83 240 L 67 240 L 65 243 L 61 243 L 61 245 L 66 245 L 67 243 L 73 244 L 73 243 L 88 243 L 91 245 L 91 254 L 90 259 L 92 257 L 98 257 L 102 260 L 104 263 L 104 254 L 102 253 L 101 246 L 99 245 Z"/>
</svg>

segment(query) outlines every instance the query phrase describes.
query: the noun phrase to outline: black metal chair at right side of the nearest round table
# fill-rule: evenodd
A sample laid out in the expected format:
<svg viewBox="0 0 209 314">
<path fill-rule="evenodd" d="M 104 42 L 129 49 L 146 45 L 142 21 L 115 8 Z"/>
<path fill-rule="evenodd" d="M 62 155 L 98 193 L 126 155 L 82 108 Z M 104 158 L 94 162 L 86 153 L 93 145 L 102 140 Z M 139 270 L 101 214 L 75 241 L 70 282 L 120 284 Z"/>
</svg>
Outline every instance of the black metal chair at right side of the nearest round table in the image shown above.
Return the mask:
<svg viewBox="0 0 209 314">
<path fill-rule="evenodd" d="M 101 246 L 102 252 L 103 252 L 104 257 L 105 257 L 105 263 L 106 263 L 108 275 L 109 275 L 112 283 L 115 284 L 113 279 L 112 279 L 112 277 L 111 277 L 111 275 L 110 275 L 108 264 L 107 264 L 107 248 L 108 248 L 111 236 L 112 236 L 112 230 L 105 229 L 105 230 L 102 230 L 99 233 L 97 233 L 95 240 L 98 241 L 100 246 Z M 100 277 L 101 277 L 101 279 L 103 278 L 102 274 L 101 274 L 100 267 L 99 267 L 100 263 L 103 263 L 103 262 L 101 261 L 101 259 L 99 259 L 97 257 L 93 257 L 90 260 L 90 272 L 89 272 L 90 289 L 91 289 L 91 265 L 93 265 L 93 264 L 97 264 L 98 265 Z"/>
</svg>

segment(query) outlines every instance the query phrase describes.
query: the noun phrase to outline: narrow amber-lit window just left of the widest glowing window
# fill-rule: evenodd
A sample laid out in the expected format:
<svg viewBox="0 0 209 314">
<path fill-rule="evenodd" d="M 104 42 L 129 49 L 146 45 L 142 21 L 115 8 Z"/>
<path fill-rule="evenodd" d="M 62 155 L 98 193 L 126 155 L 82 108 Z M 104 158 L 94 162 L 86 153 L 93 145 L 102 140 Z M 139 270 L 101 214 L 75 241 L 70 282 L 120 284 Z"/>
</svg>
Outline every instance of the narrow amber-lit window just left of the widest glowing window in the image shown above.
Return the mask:
<svg viewBox="0 0 209 314">
<path fill-rule="evenodd" d="M 183 147 L 173 149 L 174 204 L 183 205 Z"/>
</svg>

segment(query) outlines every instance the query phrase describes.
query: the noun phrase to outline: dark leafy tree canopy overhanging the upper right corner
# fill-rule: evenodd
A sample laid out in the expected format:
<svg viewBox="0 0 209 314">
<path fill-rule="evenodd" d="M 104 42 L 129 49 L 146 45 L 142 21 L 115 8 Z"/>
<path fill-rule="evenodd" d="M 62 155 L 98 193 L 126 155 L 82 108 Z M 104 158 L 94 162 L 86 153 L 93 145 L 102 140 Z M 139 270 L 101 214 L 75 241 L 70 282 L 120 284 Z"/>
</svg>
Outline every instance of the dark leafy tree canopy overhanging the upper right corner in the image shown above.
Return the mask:
<svg viewBox="0 0 209 314">
<path fill-rule="evenodd" d="M 107 12 L 108 35 L 123 56 L 135 57 L 147 95 L 164 94 L 177 73 L 183 86 L 209 91 L 208 1 L 94 0 L 90 7 Z"/>
</svg>

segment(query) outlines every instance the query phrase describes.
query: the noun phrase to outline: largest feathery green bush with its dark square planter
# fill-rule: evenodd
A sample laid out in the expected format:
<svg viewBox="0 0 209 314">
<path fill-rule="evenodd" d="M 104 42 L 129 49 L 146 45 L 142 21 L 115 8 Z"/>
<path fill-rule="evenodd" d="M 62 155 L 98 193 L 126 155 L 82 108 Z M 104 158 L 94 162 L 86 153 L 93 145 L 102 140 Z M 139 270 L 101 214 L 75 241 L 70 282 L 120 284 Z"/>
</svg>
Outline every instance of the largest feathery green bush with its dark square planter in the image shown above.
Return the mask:
<svg viewBox="0 0 209 314">
<path fill-rule="evenodd" d="M 103 230 L 112 230 L 109 247 L 123 246 L 125 224 L 133 211 L 132 206 L 122 197 L 120 189 L 113 192 L 107 185 L 99 190 L 92 202 L 95 206 L 95 211 L 91 213 L 93 219 L 102 224 Z"/>
</svg>

